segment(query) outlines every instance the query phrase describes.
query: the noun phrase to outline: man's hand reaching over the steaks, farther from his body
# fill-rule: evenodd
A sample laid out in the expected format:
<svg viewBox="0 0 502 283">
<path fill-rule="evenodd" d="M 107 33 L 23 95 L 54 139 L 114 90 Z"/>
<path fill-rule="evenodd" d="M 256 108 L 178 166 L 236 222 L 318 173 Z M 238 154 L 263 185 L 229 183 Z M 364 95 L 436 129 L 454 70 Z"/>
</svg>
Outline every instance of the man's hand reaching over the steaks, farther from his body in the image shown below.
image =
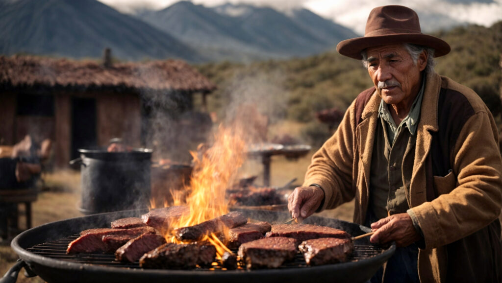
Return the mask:
<svg viewBox="0 0 502 283">
<path fill-rule="evenodd" d="M 297 187 L 288 197 L 288 210 L 291 217 L 304 219 L 312 215 L 321 205 L 324 192 L 316 186 Z"/>
</svg>

